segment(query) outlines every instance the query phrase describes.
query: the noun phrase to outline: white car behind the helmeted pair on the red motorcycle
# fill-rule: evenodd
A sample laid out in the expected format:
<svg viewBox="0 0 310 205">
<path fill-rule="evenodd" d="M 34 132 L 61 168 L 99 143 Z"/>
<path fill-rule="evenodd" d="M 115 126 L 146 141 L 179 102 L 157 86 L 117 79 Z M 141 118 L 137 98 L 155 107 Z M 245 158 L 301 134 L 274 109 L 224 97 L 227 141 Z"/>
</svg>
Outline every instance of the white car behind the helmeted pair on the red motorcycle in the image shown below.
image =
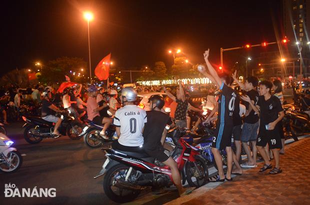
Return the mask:
<svg viewBox="0 0 310 205">
<path fill-rule="evenodd" d="M 159 95 L 159 96 L 163 97 L 163 99 L 165 101 L 165 106 L 163 107 L 163 109 L 165 112 L 169 113 L 170 112 L 169 104 L 172 102 L 172 99 L 169 98 L 167 96 L 167 94 L 161 93 L 161 92 L 141 92 L 141 93 L 138 93 L 138 95 L 136 97 L 137 106 L 144 109 L 145 111 L 149 111 L 150 107 L 149 107 L 148 99 L 154 95 Z"/>
</svg>

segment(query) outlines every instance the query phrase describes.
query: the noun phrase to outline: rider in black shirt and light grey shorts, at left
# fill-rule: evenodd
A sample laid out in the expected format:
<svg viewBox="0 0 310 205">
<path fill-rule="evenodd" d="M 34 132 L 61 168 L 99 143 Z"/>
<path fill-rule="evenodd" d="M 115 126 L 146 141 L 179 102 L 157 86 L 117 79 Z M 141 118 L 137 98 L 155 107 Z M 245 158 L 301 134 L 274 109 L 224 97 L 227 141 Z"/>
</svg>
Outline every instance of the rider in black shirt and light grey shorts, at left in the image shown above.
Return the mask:
<svg viewBox="0 0 310 205">
<path fill-rule="evenodd" d="M 61 119 L 54 115 L 54 112 L 63 112 L 59 110 L 54 104 L 50 102 L 51 99 L 51 92 L 49 89 L 45 90 L 42 93 L 42 110 L 41 110 L 41 118 L 48 122 L 55 123 L 53 135 L 60 136 L 61 134 L 58 132 L 58 128 L 61 124 Z"/>
</svg>

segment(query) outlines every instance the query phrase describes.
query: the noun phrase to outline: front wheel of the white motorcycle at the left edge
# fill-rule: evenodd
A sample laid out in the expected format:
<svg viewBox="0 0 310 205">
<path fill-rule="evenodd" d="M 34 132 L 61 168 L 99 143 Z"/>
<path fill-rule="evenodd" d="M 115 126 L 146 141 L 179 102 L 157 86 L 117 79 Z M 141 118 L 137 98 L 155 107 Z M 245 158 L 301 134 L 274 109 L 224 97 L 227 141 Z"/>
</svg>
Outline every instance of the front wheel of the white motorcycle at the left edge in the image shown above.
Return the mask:
<svg viewBox="0 0 310 205">
<path fill-rule="evenodd" d="M 7 160 L 11 163 L 10 166 L 6 164 L 3 156 L 0 155 L 0 172 L 10 174 L 16 172 L 21 164 L 22 164 L 22 157 L 18 151 L 12 151 L 7 153 Z"/>
</svg>

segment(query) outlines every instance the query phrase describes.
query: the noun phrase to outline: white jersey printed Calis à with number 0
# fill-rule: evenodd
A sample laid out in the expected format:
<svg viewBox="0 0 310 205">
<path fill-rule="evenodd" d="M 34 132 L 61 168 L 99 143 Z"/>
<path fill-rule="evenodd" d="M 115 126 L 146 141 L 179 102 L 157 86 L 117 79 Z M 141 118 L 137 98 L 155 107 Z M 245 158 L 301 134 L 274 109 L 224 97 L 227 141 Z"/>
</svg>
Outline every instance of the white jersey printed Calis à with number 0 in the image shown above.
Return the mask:
<svg viewBox="0 0 310 205">
<path fill-rule="evenodd" d="M 146 121 L 146 112 L 136 105 L 118 109 L 113 119 L 113 124 L 120 127 L 118 143 L 128 147 L 143 145 L 142 129 Z"/>
</svg>

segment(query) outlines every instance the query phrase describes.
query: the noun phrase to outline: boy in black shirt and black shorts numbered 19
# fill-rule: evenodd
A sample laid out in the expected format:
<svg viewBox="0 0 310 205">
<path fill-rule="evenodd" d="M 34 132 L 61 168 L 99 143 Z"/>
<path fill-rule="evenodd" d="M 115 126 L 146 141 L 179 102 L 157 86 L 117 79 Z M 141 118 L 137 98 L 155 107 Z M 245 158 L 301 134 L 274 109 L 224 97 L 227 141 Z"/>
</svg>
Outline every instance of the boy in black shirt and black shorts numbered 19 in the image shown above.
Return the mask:
<svg viewBox="0 0 310 205">
<path fill-rule="evenodd" d="M 268 143 L 275 160 L 275 166 L 269 174 L 279 174 L 282 172 L 279 165 L 279 150 L 282 148 L 282 144 L 277 123 L 284 117 L 284 113 L 280 100 L 276 96 L 271 95 L 271 88 L 272 83 L 269 81 L 264 80 L 259 84 L 260 96 L 256 106 L 248 96 L 241 97 L 241 99 L 248 102 L 255 112 L 260 110 L 260 125 L 256 147 L 265 164 L 259 172 L 264 172 L 272 168 L 271 162 L 264 149 Z"/>
</svg>

